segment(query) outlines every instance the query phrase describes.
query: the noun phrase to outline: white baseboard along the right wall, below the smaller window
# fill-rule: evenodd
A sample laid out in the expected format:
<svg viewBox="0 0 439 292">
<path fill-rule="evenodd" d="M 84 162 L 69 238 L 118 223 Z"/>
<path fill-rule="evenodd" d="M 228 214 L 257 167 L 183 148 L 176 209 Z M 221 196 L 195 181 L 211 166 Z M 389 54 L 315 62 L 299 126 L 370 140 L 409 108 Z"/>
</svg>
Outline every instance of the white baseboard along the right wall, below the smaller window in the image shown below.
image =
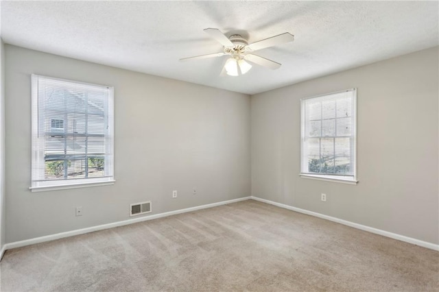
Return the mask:
<svg viewBox="0 0 439 292">
<path fill-rule="evenodd" d="M 434 243 L 429 243 L 427 241 L 420 241 L 419 239 L 413 239 L 412 237 L 408 237 L 408 236 L 404 236 L 404 235 L 401 235 L 401 234 L 396 234 L 396 233 L 380 230 L 380 229 L 377 229 L 377 228 L 372 228 L 372 227 L 369 227 L 369 226 L 364 226 L 364 225 L 361 225 L 361 224 L 358 224 L 358 223 L 353 223 L 351 221 L 346 221 L 346 220 L 338 219 L 338 218 L 331 217 L 331 216 L 328 216 L 328 215 L 323 215 L 323 214 L 320 214 L 318 212 L 312 212 L 312 211 L 309 211 L 309 210 L 300 209 L 300 208 L 292 207 L 292 206 L 281 204 L 281 203 L 276 203 L 276 202 L 270 201 L 268 199 L 261 199 L 260 197 L 253 197 L 252 196 L 251 199 L 254 199 L 256 201 L 263 202 L 263 203 L 266 203 L 266 204 L 278 206 L 278 207 L 281 207 L 281 208 L 285 208 L 285 209 L 288 209 L 288 210 L 292 210 L 292 211 L 295 211 L 295 212 L 299 212 L 299 213 L 302 213 L 302 214 L 311 215 L 313 217 L 318 217 L 318 218 L 326 219 L 326 220 L 329 220 L 329 221 L 337 222 L 337 223 L 340 223 L 340 224 L 343 224 L 343 225 L 346 225 L 346 226 L 357 228 L 359 230 L 364 230 L 364 231 L 367 231 L 367 232 L 372 232 L 372 233 L 379 234 L 379 235 L 382 235 L 382 236 L 390 237 L 391 239 L 397 239 L 399 241 L 404 241 L 406 243 L 412 243 L 414 245 L 419 245 L 419 246 L 422 246 L 422 247 L 426 247 L 426 248 L 428 248 L 430 250 L 437 250 L 437 251 L 439 251 L 439 245 L 434 244 Z"/>
</svg>

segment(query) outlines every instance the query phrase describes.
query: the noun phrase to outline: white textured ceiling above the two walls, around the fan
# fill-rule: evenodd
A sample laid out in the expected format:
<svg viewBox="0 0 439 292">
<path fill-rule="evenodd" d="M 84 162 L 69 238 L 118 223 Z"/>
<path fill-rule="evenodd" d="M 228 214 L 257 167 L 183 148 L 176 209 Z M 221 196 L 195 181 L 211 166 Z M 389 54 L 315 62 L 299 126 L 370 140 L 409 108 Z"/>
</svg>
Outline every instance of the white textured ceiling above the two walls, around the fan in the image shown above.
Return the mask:
<svg viewBox="0 0 439 292">
<path fill-rule="evenodd" d="M 2 1 L 1 38 L 12 45 L 176 80 L 254 94 L 438 45 L 438 1 Z M 220 77 L 226 56 L 203 29 L 249 42 L 289 32 L 294 42 Z"/>
</svg>

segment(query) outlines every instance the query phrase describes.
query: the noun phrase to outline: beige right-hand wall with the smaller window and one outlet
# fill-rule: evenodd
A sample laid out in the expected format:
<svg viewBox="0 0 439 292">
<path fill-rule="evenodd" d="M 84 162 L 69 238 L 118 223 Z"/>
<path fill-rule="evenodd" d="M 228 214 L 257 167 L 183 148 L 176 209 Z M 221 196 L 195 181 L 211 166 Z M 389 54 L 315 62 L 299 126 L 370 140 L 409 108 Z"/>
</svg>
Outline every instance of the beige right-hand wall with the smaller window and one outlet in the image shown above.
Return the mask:
<svg viewBox="0 0 439 292">
<path fill-rule="evenodd" d="M 359 184 L 299 178 L 300 99 L 353 87 Z M 438 244 L 438 97 L 438 47 L 252 96 L 252 195 Z"/>
</svg>

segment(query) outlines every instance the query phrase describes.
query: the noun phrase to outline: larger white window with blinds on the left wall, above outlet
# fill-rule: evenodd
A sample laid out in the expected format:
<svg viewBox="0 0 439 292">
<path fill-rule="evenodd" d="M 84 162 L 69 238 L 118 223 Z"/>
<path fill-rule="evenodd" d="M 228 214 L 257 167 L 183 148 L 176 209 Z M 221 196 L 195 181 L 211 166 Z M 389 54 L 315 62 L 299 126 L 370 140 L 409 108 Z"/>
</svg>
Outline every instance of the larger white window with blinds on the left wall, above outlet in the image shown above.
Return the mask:
<svg viewBox="0 0 439 292">
<path fill-rule="evenodd" d="M 113 88 L 32 75 L 32 191 L 113 182 Z"/>
</svg>

